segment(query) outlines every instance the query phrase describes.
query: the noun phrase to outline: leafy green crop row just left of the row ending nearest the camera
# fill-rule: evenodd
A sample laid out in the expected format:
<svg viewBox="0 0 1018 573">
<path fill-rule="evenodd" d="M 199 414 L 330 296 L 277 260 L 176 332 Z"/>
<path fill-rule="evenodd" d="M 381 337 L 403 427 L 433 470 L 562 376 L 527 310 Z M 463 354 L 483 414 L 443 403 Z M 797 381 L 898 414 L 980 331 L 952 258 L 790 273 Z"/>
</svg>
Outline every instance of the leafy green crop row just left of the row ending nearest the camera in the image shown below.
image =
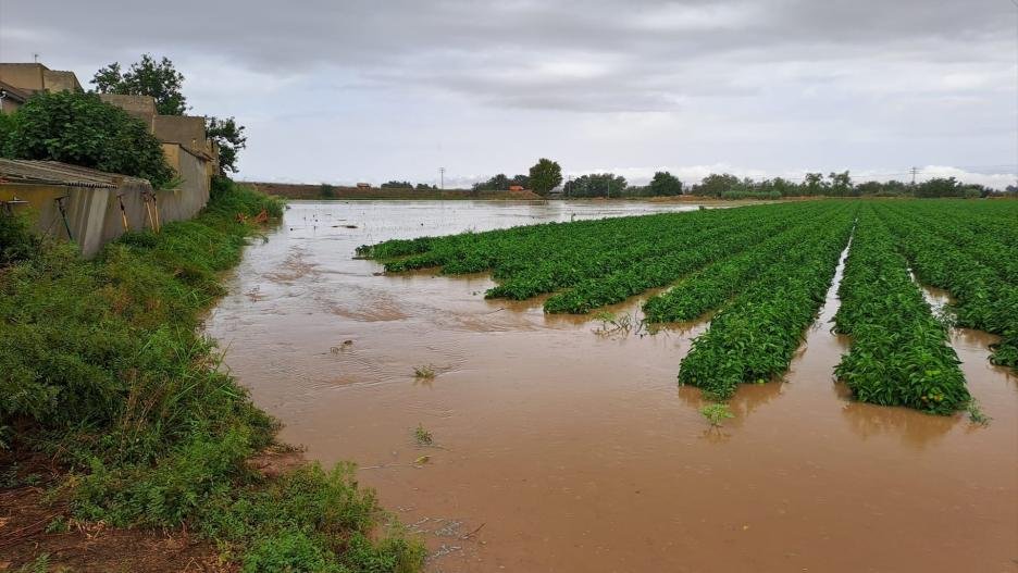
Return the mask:
<svg viewBox="0 0 1018 573">
<path fill-rule="evenodd" d="M 740 384 L 783 374 L 823 303 L 848 241 L 854 209 L 816 232 L 820 240 L 791 248 L 710 322 L 679 370 L 680 384 L 727 399 Z"/>
</svg>

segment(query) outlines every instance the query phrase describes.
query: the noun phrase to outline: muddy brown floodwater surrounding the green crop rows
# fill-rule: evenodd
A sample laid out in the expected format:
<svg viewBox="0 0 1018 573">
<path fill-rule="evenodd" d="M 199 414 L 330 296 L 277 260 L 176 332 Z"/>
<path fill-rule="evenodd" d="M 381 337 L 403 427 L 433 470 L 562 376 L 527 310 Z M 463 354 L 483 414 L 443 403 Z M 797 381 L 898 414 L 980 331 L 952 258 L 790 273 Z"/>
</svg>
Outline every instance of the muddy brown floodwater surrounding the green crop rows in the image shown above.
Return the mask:
<svg viewBox="0 0 1018 573">
<path fill-rule="evenodd" d="M 356 461 L 423 534 L 429 571 L 1018 570 L 1018 379 L 984 333 L 953 345 L 989 426 L 852 402 L 832 379 L 835 277 L 785 382 L 741 388 L 709 429 L 675 384 L 705 323 L 598 333 L 484 300 L 484 275 L 352 259 L 394 237 L 688 208 L 295 202 L 208 331 L 282 439 Z M 437 375 L 414 379 L 421 365 Z"/>
</svg>

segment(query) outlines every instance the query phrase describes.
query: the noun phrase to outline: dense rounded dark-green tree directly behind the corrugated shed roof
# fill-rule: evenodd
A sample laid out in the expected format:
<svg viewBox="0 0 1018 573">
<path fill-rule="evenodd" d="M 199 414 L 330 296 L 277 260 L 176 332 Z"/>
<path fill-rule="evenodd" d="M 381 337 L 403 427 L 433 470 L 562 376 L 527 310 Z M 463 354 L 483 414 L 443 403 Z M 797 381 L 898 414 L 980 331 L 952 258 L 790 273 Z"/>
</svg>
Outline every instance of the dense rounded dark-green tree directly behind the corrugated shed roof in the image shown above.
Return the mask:
<svg viewBox="0 0 1018 573">
<path fill-rule="evenodd" d="M 148 126 L 95 94 L 39 92 L 13 115 L 5 152 L 144 177 L 159 188 L 174 177 Z"/>
</svg>

